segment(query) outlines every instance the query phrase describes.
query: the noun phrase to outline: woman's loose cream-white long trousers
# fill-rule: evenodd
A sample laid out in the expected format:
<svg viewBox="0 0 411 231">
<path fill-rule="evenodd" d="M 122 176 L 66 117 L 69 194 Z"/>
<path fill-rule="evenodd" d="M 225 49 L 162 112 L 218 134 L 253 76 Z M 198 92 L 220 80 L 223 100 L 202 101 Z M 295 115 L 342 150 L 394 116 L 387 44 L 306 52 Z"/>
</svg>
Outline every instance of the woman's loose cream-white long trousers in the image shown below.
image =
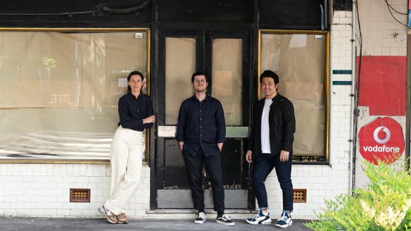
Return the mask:
<svg viewBox="0 0 411 231">
<path fill-rule="evenodd" d="M 110 198 L 104 207 L 115 215 L 125 213 L 125 206 L 141 178 L 143 132 L 118 126 L 110 146 Z"/>
</svg>

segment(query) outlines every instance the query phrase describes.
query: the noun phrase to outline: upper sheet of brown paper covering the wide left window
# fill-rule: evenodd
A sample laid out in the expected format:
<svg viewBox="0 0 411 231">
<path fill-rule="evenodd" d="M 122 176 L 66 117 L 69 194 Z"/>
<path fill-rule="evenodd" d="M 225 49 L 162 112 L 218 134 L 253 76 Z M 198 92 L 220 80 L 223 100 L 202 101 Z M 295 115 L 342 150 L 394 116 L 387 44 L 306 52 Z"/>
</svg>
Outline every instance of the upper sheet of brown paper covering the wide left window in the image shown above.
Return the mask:
<svg viewBox="0 0 411 231">
<path fill-rule="evenodd" d="M 146 70 L 146 40 L 133 32 L 2 32 L 0 107 L 117 104 L 118 79 Z"/>
</svg>

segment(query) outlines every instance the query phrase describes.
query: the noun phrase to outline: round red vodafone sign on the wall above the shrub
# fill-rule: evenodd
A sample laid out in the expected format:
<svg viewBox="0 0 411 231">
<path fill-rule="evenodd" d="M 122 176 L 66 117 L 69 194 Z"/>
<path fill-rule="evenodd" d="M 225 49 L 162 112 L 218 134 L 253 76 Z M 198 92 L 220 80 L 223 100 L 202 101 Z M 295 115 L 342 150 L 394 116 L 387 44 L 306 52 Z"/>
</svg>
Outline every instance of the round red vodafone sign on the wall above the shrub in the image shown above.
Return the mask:
<svg viewBox="0 0 411 231">
<path fill-rule="evenodd" d="M 404 151 L 403 128 L 393 118 L 377 118 L 358 132 L 360 154 L 377 165 L 377 159 L 393 163 Z"/>
</svg>

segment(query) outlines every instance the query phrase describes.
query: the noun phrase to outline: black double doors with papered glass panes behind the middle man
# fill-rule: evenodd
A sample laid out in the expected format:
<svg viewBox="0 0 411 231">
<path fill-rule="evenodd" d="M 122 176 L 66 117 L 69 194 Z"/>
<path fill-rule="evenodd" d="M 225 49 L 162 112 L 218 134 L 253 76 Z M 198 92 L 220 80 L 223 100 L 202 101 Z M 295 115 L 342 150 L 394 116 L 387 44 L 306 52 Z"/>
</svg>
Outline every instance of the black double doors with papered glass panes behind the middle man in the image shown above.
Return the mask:
<svg viewBox="0 0 411 231">
<path fill-rule="evenodd" d="M 250 94 L 250 33 L 211 30 L 160 30 L 158 36 L 158 115 L 156 142 L 157 208 L 193 208 L 179 145 L 175 140 L 179 106 L 193 96 L 191 75 L 210 77 L 207 94 L 225 111 L 227 139 L 222 149 L 226 208 L 249 207 L 248 135 Z M 207 173 L 203 170 L 206 208 L 213 208 Z"/>
</svg>

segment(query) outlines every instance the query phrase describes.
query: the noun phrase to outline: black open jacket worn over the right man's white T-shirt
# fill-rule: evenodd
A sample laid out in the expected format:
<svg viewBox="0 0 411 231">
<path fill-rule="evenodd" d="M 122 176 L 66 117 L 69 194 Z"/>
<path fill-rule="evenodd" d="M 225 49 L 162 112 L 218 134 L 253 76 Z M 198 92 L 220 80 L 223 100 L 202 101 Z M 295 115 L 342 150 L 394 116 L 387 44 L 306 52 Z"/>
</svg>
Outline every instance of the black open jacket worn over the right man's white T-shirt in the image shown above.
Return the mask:
<svg viewBox="0 0 411 231">
<path fill-rule="evenodd" d="M 253 151 L 253 157 L 261 156 L 261 116 L 263 115 L 264 99 L 254 105 L 253 124 L 248 136 L 248 150 Z M 282 150 L 293 151 L 294 132 L 296 132 L 296 117 L 291 101 L 281 94 L 272 99 L 268 116 L 270 127 L 271 155 L 278 155 Z"/>
</svg>

